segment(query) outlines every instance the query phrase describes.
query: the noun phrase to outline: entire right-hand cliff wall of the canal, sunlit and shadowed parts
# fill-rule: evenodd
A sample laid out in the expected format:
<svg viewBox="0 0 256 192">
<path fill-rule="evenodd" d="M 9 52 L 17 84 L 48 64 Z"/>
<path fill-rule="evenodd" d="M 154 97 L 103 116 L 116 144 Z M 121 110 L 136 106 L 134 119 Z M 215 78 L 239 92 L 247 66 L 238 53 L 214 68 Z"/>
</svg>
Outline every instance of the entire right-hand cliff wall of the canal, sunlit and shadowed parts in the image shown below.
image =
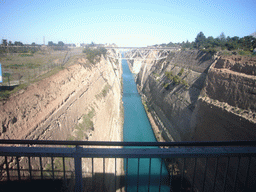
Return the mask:
<svg viewBox="0 0 256 192">
<path fill-rule="evenodd" d="M 129 61 L 137 88 L 158 141 L 225 141 L 256 138 L 256 57 L 211 55 L 197 50 L 169 53 L 163 60 Z M 152 58 L 152 59 L 150 59 Z M 139 68 L 139 70 L 138 70 Z M 172 162 L 179 177 L 183 160 Z M 197 159 L 196 189 L 202 190 L 205 159 Z M 227 160 L 219 160 L 226 167 Z M 191 183 L 194 159 L 186 159 L 186 178 Z M 214 175 L 216 159 L 208 160 L 208 174 Z M 244 189 L 248 158 L 241 158 L 237 189 Z M 230 159 L 227 185 L 232 186 L 237 158 Z M 251 161 L 250 175 L 255 161 Z M 224 170 L 224 169 L 223 169 Z M 216 185 L 222 190 L 224 171 L 219 170 Z M 253 180 L 252 180 L 253 181 Z M 212 177 L 205 189 L 212 189 Z M 252 186 L 253 182 L 250 183 Z M 238 191 L 239 191 L 238 190 Z M 207 191 L 207 190 L 206 190 Z"/>
</svg>

